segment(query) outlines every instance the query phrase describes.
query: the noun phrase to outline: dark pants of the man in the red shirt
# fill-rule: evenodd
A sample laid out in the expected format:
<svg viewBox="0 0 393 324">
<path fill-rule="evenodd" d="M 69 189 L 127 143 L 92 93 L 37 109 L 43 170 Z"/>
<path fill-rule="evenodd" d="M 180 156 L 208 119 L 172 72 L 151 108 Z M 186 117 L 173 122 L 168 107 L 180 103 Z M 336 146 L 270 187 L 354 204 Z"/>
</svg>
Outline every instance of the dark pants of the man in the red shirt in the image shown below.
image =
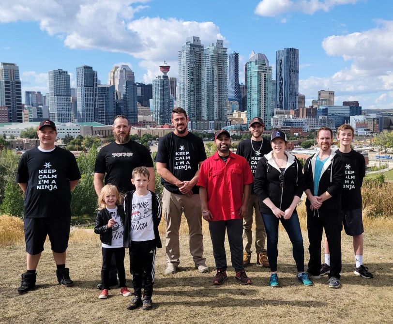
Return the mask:
<svg viewBox="0 0 393 324">
<path fill-rule="evenodd" d="M 236 272 L 243 270 L 243 220 L 230 219 L 209 222 L 215 266 L 227 270 L 225 231 L 227 230 L 232 266 Z"/>
</svg>

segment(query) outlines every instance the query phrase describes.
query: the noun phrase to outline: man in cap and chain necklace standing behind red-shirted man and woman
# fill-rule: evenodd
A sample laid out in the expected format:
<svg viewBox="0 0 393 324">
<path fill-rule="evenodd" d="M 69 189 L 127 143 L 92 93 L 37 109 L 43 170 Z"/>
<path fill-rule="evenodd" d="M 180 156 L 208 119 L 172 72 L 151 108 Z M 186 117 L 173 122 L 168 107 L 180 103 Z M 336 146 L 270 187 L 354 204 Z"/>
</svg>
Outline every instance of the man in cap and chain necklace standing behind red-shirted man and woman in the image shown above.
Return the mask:
<svg viewBox="0 0 393 324">
<path fill-rule="evenodd" d="M 263 155 L 272 151 L 269 141 L 262 139 L 264 130 L 263 120 L 259 117 L 251 119 L 248 129 L 251 133 L 251 139 L 244 139 L 238 145 L 237 154 L 244 157 L 250 165 L 251 172 L 255 175 L 257 164 Z M 253 242 L 253 214 L 255 210 L 255 252 L 257 253 L 258 266 L 269 268 L 270 264 L 266 255 L 265 241 L 266 231 L 263 224 L 262 215 L 259 212 L 259 198 L 254 193 L 254 185 L 251 185 L 251 194 L 248 199 L 248 212 L 243 217 L 243 264 L 247 266 L 251 261 L 251 244 Z"/>
</svg>

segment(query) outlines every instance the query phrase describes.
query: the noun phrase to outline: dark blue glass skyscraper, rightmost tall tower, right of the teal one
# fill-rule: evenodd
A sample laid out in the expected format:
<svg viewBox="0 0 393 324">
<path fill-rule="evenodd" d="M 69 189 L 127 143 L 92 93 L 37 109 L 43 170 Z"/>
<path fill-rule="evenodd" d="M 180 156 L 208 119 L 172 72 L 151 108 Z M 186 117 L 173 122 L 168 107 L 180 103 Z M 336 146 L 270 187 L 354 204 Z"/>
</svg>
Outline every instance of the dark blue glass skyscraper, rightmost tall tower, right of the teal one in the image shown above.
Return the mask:
<svg viewBox="0 0 393 324">
<path fill-rule="evenodd" d="M 276 108 L 298 109 L 299 49 L 276 51 Z"/>
</svg>

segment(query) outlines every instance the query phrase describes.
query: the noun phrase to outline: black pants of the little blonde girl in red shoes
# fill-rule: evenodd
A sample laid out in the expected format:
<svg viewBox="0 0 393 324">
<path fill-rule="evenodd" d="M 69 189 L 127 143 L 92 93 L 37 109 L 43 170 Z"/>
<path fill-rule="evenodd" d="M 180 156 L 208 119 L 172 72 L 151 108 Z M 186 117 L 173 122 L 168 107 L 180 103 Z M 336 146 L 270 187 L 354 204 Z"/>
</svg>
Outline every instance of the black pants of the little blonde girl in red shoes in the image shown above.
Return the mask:
<svg viewBox="0 0 393 324">
<path fill-rule="evenodd" d="M 102 248 L 102 268 L 101 268 L 101 282 L 103 289 L 109 289 L 111 281 L 109 280 L 109 272 L 112 265 L 112 258 L 115 258 L 116 270 L 119 274 L 119 286 L 125 285 L 125 270 L 124 270 L 124 247 Z"/>
</svg>

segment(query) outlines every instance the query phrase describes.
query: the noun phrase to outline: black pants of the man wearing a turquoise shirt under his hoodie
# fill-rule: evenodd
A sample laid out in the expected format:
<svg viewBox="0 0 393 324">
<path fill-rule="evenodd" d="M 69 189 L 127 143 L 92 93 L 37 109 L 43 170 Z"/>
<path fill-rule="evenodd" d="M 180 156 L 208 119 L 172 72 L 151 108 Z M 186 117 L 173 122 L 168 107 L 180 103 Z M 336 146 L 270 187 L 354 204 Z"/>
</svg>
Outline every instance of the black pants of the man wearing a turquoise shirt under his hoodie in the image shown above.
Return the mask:
<svg viewBox="0 0 393 324">
<path fill-rule="evenodd" d="M 340 213 L 321 214 L 307 209 L 307 231 L 310 246 L 310 261 L 308 272 L 311 275 L 319 275 L 322 266 L 321 243 L 322 232 L 325 230 L 330 250 L 330 277 L 340 278 L 341 272 L 341 226 Z"/>
</svg>

